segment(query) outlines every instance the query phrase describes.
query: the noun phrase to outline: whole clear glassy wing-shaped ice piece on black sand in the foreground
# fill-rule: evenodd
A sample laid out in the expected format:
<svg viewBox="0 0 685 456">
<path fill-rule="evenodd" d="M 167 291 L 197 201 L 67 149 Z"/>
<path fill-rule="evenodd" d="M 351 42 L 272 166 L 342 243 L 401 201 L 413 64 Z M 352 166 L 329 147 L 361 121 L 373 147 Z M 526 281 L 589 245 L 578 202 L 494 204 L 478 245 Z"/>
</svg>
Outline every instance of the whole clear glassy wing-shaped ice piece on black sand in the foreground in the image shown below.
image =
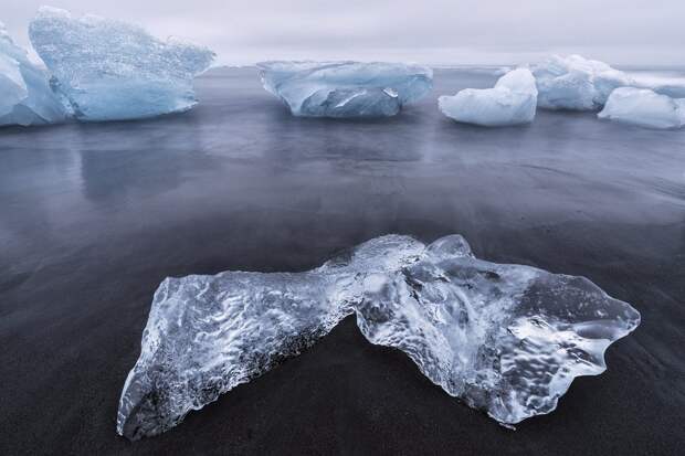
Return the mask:
<svg viewBox="0 0 685 456">
<path fill-rule="evenodd" d="M 477 259 L 460 235 L 388 235 L 303 273 L 165 279 L 124 384 L 117 432 L 179 424 L 356 315 L 449 394 L 505 424 L 552 411 L 640 314 L 582 277 Z"/>
</svg>

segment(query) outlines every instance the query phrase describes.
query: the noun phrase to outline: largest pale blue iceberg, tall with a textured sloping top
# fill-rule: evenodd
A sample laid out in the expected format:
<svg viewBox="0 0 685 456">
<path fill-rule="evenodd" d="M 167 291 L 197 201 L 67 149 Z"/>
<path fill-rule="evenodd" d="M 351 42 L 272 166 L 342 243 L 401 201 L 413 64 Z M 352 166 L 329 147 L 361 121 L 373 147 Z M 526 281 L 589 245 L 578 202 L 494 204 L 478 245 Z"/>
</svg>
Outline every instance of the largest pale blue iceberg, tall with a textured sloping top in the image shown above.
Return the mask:
<svg viewBox="0 0 685 456">
<path fill-rule="evenodd" d="M 53 88 L 78 120 L 152 117 L 197 104 L 192 79 L 214 53 L 139 26 L 43 7 L 29 35 Z"/>
</svg>

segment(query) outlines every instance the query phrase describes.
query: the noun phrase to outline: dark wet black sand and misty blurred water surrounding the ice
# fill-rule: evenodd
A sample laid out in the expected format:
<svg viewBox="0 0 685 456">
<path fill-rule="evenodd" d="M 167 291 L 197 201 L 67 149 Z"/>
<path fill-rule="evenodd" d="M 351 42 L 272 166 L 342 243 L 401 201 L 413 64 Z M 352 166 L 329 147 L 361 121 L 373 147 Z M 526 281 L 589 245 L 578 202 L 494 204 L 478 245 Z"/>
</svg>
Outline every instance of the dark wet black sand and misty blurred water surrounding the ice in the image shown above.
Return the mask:
<svg viewBox="0 0 685 456">
<path fill-rule="evenodd" d="M 494 79 L 438 72 L 399 117 L 355 123 L 292 118 L 233 70 L 200 79 L 186 115 L 0 130 L 0 454 L 682 454 L 685 131 L 438 112 Z M 164 277 L 303 271 L 387 233 L 461 233 L 479 257 L 584 275 L 642 326 L 516 432 L 347 319 L 165 435 L 115 434 Z"/>
</svg>

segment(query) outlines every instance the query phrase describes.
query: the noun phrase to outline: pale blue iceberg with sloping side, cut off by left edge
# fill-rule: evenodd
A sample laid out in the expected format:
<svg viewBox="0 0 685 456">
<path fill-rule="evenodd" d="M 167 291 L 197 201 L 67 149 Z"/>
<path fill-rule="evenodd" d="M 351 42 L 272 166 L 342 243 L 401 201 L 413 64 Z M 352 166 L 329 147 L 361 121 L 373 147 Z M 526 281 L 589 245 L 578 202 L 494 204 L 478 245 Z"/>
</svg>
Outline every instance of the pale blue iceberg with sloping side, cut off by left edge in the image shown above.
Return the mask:
<svg viewBox="0 0 685 456">
<path fill-rule="evenodd" d="M 48 75 L 17 46 L 0 22 L 0 126 L 41 125 L 64 119 Z"/>
</svg>

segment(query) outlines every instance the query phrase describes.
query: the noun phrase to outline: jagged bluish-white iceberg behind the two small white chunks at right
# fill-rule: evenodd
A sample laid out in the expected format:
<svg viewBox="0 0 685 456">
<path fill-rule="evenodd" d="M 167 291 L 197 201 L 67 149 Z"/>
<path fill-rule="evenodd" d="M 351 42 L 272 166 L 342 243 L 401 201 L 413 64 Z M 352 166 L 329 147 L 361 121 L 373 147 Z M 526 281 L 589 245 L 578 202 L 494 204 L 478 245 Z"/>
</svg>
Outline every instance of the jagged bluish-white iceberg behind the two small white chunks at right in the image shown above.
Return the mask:
<svg viewBox="0 0 685 456">
<path fill-rule="evenodd" d="M 625 73 L 580 55 L 554 55 L 533 66 L 538 106 L 547 109 L 601 109 L 616 87 L 633 85 Z"/>
</svg>

